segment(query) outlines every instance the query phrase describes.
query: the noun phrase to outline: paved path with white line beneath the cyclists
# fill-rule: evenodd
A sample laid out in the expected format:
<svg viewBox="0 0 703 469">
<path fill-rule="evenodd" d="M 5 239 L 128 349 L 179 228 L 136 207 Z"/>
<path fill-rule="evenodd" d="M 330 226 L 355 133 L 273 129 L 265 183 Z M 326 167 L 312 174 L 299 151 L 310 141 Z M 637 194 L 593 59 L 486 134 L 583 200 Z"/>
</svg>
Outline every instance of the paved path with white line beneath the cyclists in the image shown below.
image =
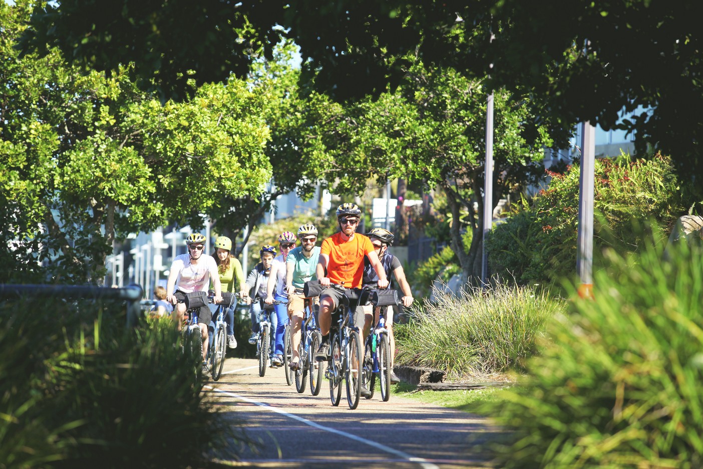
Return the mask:
<svg viewBox="0 0 703 469">
<path fill-rule="evenodd" d="M 241 446 L 243 467 L 257 468 L 467 468 L 490 465 L 477 445 L 495 435 L 479 416 L 391 396 L 383 402 L 378 381 L 373 399 L 332 406 L 328 381 L 312 396 L 286 385 L 283 368 L 227 359 L 217 383 L 205 392 L 224 406 L 225 418 L 243 421 L 255 447 Z"/>
</svg>

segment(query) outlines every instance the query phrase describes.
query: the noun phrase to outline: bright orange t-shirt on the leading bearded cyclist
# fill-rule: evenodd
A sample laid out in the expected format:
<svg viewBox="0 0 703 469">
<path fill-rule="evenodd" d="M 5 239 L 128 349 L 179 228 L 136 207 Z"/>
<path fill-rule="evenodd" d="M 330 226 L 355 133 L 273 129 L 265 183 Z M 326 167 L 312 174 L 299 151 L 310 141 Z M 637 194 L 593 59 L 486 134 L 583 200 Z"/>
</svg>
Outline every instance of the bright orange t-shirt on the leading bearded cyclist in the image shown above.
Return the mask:
<svg viewBox="0 0 703 469">
<path fill-rule="evenodd" d="M 355 233 L 349 241 L 342 240 L 342 233 L 335 233 L 322 242 L 320 254 L 330 257 L 327 264 L 327 276 L 330 282 L 347 288 L 361 288 L 363 278 L 363 257 L 373 252 L 371 240 Z"/>
</svg>

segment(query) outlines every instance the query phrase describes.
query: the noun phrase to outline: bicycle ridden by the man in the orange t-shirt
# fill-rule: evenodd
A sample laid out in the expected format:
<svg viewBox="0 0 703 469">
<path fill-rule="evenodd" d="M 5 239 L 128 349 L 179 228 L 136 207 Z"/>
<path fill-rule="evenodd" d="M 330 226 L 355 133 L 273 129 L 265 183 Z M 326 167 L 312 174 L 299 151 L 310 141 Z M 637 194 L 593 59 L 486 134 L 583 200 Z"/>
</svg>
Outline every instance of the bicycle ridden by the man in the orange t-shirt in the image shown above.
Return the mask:
<svg viewBox="0 0 703 469">
<path fill-rule="evenodd" d="M 340 313 L 340 319 L 337 321 L 337 326 L 333 324 L 333 327 L 330 328 L 330 334 L 334 333 L 334 335 L 330 342 L 329 364 L 325 376 L 330 380 L 332 405 L 338 406 L 342 397 L 342 373 L 344 373 L 343 377 L 347 383 L 347 404 L 349 404 L 349 409 L 354 410 L 359 406 L 362 379 L 361 336 L 359 328 L 349 324 L 350 318 L 354 317 L 352 300 L 356 300 L 356 298 L 349 297 L 350 293 L 355 295 L 354 290 L 348 290 L 335 284 L 330 284 L 330 287 L 341 290 L 344 295 L 335 310 L 335 313 Z"/>
</svg>

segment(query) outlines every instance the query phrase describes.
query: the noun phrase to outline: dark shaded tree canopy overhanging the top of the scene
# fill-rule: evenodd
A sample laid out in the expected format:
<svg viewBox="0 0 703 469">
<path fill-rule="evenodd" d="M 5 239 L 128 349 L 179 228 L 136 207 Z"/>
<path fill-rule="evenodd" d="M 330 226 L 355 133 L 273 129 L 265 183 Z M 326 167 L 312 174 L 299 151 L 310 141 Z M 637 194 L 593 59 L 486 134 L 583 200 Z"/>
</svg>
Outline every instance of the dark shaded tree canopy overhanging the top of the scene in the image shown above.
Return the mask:
<svg viewBox="0 0 703 469">
<path fill-rule="evenodd" d="M 25 50 L 46 44 L 97 70 L 134 63 L 134 77 L 163 96 L 246 73 L 281 36 L 299 44 L 304 79 L 335 98 L 378 96 L 407 77 L 416 54 L 467 77 L 489 74 L 492 89 L 544 101 L 550 122 L 620 127 L 701 174 L 701 32 L 686 0 L 470 2 L 204 2 L 65 0 L 40 5 Z M 640 108 L 640 106 L 644 107 Z M 685 111 L 684 111 L 685 110 Z M 691 118 L 693 116 L 694 118 Z M 545 116 L 546 117 L 546 116 Z"/>
</svg>

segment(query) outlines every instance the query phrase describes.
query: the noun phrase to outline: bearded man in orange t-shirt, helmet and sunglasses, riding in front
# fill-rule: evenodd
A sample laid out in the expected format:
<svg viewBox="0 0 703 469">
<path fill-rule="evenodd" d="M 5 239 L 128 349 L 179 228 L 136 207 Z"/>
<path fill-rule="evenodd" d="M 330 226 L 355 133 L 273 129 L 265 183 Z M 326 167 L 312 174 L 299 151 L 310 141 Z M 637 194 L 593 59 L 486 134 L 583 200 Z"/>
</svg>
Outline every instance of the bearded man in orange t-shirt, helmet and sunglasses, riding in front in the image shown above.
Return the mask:
<svg viewBox="0 0 703 469">
<path fill-rule="evenodd" d="M 363 268 L 360 267 L 363 266 L 364 256 L 368 257 L 371 266 L 373 266 L 378 275 L 378 288 L 386 288 L 388 286 L 386 271 L 378 260 L 373 244 L 363 234 L 355 233 L 360 218 L 361 210 L 353 203 L 343 203 L 337 207 L 337 222 L 340 225 L 340 232 L 333 234 L 322 242 L 316 269 L 317 278 L 323 286 L 335 283 L 349 290 L 356 290 L 355 293 L 349 292 L 351 293 L 349 297 L 352 298 L 359 297 L 359 289 L 363 278 Z M 325 288 L 320 294 L 318 321 L 320 332 L 322 333 L 322 342 L 315 354 L 317 361 L 329 359 L 332 311 L 337 309 L 337 304 L 340 304 L 342 295 L 344 293 L 335 288 Z M 360 329 L 363 328 L 364 316 L 363 309 L 360 307 L 356 308 L 354 323 Z M 363 350 L 361 353 L 363 354 Z M 361 395 L 363 397 L 370 396 L 370 391 L 363 384 L 361 385 Z"/>
</svg>

